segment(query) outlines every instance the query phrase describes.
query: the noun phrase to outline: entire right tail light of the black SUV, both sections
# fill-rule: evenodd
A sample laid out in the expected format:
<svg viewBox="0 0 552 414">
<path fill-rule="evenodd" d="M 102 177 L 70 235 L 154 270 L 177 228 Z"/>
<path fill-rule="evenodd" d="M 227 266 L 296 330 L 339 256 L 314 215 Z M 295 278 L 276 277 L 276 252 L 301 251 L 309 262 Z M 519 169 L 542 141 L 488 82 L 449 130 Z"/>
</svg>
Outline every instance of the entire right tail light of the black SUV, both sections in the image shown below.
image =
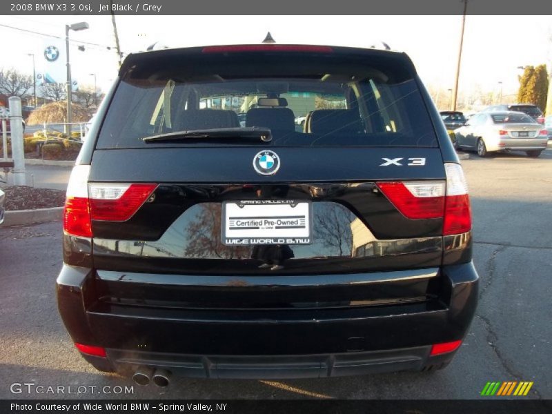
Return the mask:
<svg viewBox="0 0 552 414">
<path fill-rule="evenodd" d="M 468 186 L 459 164 L 444 164 L 443 181 L 386 181 L 378 188 L 408 219 L 443 218 L 443 235 L 471 230 Z"/>
</svg>

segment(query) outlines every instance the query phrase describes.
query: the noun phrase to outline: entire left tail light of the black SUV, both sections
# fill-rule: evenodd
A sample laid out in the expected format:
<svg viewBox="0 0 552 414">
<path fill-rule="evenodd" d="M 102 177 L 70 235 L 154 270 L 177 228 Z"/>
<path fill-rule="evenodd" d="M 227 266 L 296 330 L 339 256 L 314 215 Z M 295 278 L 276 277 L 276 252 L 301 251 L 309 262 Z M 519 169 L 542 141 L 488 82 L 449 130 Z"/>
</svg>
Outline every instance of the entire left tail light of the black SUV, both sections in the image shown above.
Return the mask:
<svg viewBox="0 0 552 414">
<path fill-rule="evenodd" d="M 157 184 L 90 183 L 90 166 L 75 166 L 69 178 L 63 230 L 92 237 L 92 220 L 126 221 L 152 195 Z"/>
</svg>

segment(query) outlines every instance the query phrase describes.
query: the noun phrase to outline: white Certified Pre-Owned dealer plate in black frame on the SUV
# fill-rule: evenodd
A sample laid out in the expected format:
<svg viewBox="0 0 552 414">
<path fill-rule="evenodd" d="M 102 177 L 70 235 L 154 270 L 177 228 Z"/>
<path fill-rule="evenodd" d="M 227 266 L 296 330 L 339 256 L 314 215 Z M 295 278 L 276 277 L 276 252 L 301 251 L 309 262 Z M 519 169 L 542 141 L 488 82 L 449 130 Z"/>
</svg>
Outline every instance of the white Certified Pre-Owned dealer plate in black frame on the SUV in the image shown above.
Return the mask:
<svg viewBox="0 0 552 414">
<path fill-rule="evenodd" d="M 222 204 L 222 243 L 311 244 L 313 221 L 310 201 L 239 200 Z"/>
</svg>

